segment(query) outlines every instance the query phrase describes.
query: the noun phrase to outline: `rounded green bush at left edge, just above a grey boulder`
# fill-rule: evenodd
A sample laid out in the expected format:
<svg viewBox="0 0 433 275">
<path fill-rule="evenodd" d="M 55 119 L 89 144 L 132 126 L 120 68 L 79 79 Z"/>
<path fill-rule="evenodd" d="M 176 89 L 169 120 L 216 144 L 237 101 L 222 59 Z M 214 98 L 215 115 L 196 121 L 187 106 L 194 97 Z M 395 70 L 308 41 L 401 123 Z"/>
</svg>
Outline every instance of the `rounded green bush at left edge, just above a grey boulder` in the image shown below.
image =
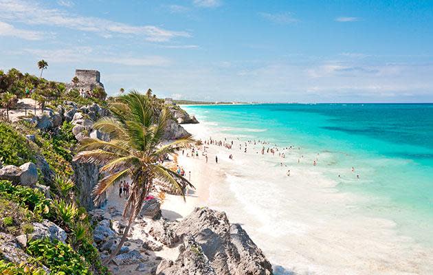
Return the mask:
<svg viewBox="0 0 433 275">
<path fill-rule="evenodd" d="M 8 124 L 0 122 L 0 157 L 4 164 L 20 166 L 34 162 L 27 139 Z"/>
</svg>

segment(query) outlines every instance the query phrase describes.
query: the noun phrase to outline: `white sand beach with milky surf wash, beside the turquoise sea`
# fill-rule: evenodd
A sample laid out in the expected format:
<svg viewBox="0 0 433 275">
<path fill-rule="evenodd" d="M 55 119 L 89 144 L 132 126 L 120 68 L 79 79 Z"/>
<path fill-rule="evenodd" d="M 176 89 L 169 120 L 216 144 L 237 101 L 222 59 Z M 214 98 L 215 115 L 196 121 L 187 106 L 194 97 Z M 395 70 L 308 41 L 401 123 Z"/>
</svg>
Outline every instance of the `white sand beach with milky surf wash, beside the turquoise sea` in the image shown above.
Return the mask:
<svg viewBox="0 0 433 275">
<path fill-rule="evenodd" d="M 197 139 L 224 140 L 206 122 L 185 128 Z M 231 150 L 208 146 L 208 163 L 202 151 L 198 158 L 179 154 L 196 190 L 186 202 L 168 195 L 164 217 L 181 219 L 199 206 L 225 211 L 265 252 L 276 274 L 433 274 L 433 251 L 397 234 L 394 222 L 360 212 L 357 202 L 365 198 L 337 192 L 335 182 L 322 177 L 325 168 L 312 165 L 316 156 L 304 155 L 298 164 L 300 153 L 287 151 L 281 167 L 278 153 L 261 155 L 259 144 L 244 153 L 236 137 L 227 136 L 231 140 Z"/>
</svg>

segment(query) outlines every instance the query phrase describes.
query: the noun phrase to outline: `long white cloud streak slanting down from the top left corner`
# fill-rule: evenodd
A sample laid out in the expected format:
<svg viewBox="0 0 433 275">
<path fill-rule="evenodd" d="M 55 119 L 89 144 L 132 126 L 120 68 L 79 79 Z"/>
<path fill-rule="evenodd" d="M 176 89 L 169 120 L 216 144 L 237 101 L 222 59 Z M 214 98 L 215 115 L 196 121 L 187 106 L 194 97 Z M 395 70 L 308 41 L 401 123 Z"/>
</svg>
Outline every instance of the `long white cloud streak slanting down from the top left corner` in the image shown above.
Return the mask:
<svg viewBox="0 0 433 275">
<path fill-rule="evenodd" d="M 111 37 L 113 34 L 132 34 L 144 36 L 146 41 L 153 42 L 169 41 L 175 37 L 190 37 L 188 32 L 165 30 L 154 25 L 135 26 L 97 17 L 81 17 L 64 10 L 44 8 L 36 2 L 2 0 L 0 10 L 0 19 L 6 21 L 69 28 L 93 32 L 103 37 Z"/>
</svg>

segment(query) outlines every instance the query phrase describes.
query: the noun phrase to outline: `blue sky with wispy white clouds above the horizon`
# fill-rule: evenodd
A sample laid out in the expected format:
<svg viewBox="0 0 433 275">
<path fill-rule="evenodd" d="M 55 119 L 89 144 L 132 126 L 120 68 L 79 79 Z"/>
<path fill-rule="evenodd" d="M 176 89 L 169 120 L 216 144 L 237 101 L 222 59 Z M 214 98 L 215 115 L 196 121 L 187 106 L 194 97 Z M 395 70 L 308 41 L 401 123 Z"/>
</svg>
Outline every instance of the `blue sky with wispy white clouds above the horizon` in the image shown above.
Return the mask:
<svg viewBox="0 0 433 275">
<path fill-rule="evenodd" d="M 242 102 L 433 102 L 433 1 L 0 0 L 0 69 Z"/>
</svg>

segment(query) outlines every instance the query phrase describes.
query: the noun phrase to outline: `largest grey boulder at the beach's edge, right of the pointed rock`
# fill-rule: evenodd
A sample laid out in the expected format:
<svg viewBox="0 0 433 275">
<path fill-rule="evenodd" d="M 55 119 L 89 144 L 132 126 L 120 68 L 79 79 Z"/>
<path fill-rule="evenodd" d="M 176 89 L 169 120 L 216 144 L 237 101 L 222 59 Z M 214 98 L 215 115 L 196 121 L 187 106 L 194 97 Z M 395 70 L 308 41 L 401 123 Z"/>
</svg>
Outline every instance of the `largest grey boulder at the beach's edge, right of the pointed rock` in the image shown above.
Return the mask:
<svg viewBox="0 0 433 275">
<path fill-rule="evenodd" d="M 179 237 L 195 238 L 216 274 L 272 274 L 271 263 L 263 252 L 241 225 L 230 224 L 224 212 L 195 208 L 172 229 Z"/>
</svg>

